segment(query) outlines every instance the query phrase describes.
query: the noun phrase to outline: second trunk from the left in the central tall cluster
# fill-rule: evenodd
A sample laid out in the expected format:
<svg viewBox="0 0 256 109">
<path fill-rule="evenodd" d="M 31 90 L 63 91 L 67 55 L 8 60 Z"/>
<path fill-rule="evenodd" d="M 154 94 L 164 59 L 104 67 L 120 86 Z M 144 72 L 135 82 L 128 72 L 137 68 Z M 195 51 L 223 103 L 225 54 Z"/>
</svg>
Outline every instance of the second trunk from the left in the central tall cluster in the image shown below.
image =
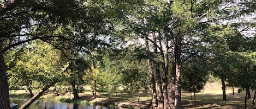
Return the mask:
<svg viewBox="0 0 256 109">
<path fill-rule="evenodd" d="M 152 33 L 153 40 L 154 40 L 154 53 L 157 54 L 157 42 L 156 42 L 156 35 Z M 158 92 L 158 108 L 164 108 L 164 95 L 163 95 L 163 88 L 162 88 L 162 81 L 159 69 L 159 63 L 155 62 L 154 66 L 156 68 L 156 78 L 157 78 L 157 92 Z"/>
</svg>

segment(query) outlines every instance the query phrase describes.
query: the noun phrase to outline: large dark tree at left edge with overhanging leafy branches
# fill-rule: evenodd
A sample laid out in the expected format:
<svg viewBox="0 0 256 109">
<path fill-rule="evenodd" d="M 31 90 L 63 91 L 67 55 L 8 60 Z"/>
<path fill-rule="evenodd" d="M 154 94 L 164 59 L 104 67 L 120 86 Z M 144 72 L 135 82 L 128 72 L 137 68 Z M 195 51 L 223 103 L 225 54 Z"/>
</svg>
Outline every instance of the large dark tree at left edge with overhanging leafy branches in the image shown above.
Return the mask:
<svg viewBox="0 0 256 109">
<path fill-rule="evenodd" d="M 106 15 L 111 9 L 100 8 L 99 4 L 83 1 L 7 1 L 1 4 L 1 47 L 0 47 L 0 108 L 10 108 L 9 91 L 4 55 L 26 42 L 42 40 L 61 50 L 72 59 L 75 53 L 91 48 L 111 28 Z M 10 4 L 10 5 L 9 5 Z M 92 7 L 91 7 L 92 6 Z M 9 11 L 14 9 L 13 11 Z M 105 20 L 103 20 L 105 19 Z M 105 26 L 105 25 L 108 26 Z M 92 34 L 93 33 L 93 34 Z M 42 92 L 43 93 L 43 92 Z"/>
</svg>

